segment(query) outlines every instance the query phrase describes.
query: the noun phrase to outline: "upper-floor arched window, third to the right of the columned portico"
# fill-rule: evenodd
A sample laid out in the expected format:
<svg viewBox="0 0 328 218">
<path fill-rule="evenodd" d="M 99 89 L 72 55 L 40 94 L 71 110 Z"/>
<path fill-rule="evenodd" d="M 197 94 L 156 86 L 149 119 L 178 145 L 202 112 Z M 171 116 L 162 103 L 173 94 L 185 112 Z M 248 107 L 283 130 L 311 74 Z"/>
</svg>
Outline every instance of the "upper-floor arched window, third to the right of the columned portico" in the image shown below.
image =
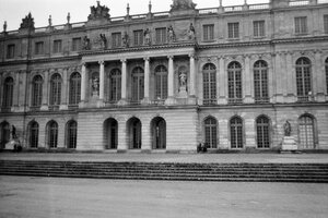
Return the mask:
<svg viewBox="0 0 328 218">
<path fill-rule="evenodd" d="M 268 64 L 266 61 L 257 61 L 254 64 L 254 94 L 256 102 L 268 102 Z"/>
</svg>

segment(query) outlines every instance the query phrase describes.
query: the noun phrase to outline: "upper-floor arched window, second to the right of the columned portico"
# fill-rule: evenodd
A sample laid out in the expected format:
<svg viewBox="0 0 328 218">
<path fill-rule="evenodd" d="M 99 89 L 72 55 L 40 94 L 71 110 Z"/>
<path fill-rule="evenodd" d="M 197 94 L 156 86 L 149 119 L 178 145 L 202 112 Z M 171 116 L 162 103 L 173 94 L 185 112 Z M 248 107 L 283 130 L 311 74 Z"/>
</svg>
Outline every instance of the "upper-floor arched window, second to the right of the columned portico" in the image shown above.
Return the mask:
<svg viewBox="0 0 328 218">
<path fill-rule="evenodd" d="M 229 87 L 229 102 L 236 104 L 243 101 L 242 96 L 242 65 L 234 61 L 227 66 L 227 87 Z"/>
</svg>

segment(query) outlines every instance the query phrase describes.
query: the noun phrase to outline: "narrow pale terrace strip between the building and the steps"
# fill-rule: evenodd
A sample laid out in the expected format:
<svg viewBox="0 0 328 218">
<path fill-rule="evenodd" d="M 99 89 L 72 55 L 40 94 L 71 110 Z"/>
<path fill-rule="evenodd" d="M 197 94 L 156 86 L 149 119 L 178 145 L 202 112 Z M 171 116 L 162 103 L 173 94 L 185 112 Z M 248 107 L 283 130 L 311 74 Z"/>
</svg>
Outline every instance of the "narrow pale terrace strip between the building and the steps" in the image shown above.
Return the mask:
<svg viewBox="0 0 328 218">
<path fill-rule="evenodd" d="M 0 160 L 328 164 L 328 154 L 0 153 Z"/>
</svg>

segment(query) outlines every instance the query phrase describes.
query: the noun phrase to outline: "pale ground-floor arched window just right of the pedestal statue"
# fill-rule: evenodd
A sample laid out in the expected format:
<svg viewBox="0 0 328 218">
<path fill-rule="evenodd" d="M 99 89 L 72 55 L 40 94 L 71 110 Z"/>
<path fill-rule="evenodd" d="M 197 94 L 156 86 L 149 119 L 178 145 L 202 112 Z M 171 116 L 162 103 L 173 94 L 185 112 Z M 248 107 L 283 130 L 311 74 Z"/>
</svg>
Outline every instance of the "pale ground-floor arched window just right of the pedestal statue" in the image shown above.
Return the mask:
<svg viewBox="0 0 328 218">
<path fill-rule="evenodd" d="M 302 116 L 298 120 L 300 124 L 300 145 L 303 149 L 315 148 L 315 125 L 314 119 L 308 116 Z"/>
</svg>

